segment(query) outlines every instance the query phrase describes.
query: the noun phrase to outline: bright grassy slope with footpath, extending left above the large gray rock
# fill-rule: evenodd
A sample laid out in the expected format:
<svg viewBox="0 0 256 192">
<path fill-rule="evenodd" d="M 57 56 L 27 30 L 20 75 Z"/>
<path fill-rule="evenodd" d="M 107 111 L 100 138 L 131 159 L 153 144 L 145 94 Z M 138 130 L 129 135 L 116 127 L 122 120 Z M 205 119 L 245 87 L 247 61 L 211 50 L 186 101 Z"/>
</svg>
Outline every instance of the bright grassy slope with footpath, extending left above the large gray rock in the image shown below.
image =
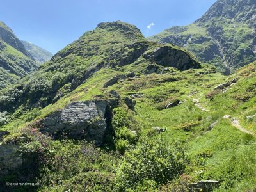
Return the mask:
<svg viewBox="0 0 256 192">
<path fill-rule="evenodd" d="M 211 101 L 205 98 L 205 95 L 212 92 L 216 85 L 234 77 L 211 74 L 210 83 L 207 75 L 195 77 L 196 72 L 206 69 L 176 72 L 175 75 L 141 75 L 139 79 L 117 83 L 107 89 L 102 88 L 106 79 L 117 75 L 118 72 L 111 69 L 100 70 L 86 83 L 68 93 L 55 104 L 39 111 L 33 109 L 19 118 L 14 118 L 9 124 L 4 125 L 2 130 L 19 132 L 19 128 L 26 126 L 26 122 L 36 116 L 44 118 L 51 111 L 61 109 L 70 102 L 92 100 L 96 95 L 106 94 L 109 90 L 117 90 L 122 97 L 140 94 L 142 96 L 135 99 L 136 108 L 133 113 L 134 118 L 142 127 L 140 136 L 158 137 L 154 136 L 152 127 L 161 127 L 167 130 L 161 134 L 164 142 L 173 143 L 177 139 L 185 141 L 189 157 L 195 159 L 195 164 L 189 166 L 186 174 L 196 181 L 198 180 L 196 171 L 202 171 L 203 180 L 220 180 L 219 191 L 255 189 L 254 164 L 256 159 L 253 156 L 255 136 L 237 129 L 232 125 L 230 118 L 223 118 L 225 115 L 238 118 L 244 129 L 256 134 L 255 117 L 246 118 L 246 116 L 256 113 L 255 89 L 253 89 L 256 77 L 255 63 L 239 70 L 234 75 L 234 77 L 239 77 L 237 83 L 225 93 L 214 93 Z M 170 78 L 177 79 L 177 81 L 170 82 Z M 84 92 L 85 89 L 86 92 Z M 196 91 L 197 93 L 195 93 Z M 191 93 L 195 93 L 195 95 L 191 95 Z M 159 106 L 165 106 L 173 99 L 182 100 L 184 103 L 174 108 L 159 110 Z M 200 100 L 201 106 L 209 111 L 202 111 L 194 104 L 193 99 Z M 218 123 L 213 129 L 207 131 L 208 127 L 217 120 Z M 18 128 L 14 129 L 14 127 Z M 115 157 L 109 158 L 115 159 Z M 84 159 L 82 158 L 81 161 Z M 200 164 L 199 161 L 204 161 L 204 163 Z M 113 171 L 110 173 L 112 174 Z M 65 182 L 70 181 L 66 180 Z M 46 188 L 46 186 L 43 187 Z M 47 191 L 51 187 L 54 186 L 49 186 L 45 190 Z M 66 186 L 65 189 L 68 187 Z"/>
</svg>

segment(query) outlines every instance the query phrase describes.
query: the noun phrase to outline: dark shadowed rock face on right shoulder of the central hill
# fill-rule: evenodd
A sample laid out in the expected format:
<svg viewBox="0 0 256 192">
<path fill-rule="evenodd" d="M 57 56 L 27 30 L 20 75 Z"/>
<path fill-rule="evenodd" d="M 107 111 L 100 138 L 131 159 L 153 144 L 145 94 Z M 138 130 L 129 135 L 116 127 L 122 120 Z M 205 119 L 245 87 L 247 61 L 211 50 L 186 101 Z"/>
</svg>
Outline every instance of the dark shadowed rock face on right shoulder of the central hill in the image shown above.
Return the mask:
<svg viewBox="0 0 256 192">
<path fill-rule="evenodd" d="M 189 57 L 186 52 L 173 49 L 169 45 L 157 47 L 157 49 L 155 49 L 152 53 L 145 54 L 144 58 L 154 60 L 158 65 L 164 67 L 175 67 L 179 70 L 201 68 L 200 63 Z"/>
</svg>

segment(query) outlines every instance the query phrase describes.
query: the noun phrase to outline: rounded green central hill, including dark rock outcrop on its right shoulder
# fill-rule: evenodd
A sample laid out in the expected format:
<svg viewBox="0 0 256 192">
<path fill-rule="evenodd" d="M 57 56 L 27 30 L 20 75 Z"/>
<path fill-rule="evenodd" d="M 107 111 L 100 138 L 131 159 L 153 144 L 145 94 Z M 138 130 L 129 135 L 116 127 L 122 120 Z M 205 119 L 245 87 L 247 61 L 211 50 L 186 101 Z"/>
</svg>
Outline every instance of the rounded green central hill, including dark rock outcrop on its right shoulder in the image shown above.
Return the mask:
<svg viewBox="0 0 256 192">
<path fill-rule="evenodd" d="M 12 95 L 12 99 L 1 100 L 0 110 L 47 106 L 60 98 L 56 95 L 60 88 L 74 90 L 102 68 L 151 74 L 168 71 L 168 67 L 188 70 L 201 66 L 180 47 L 148 42 L 135 26 L 123 22 L 102 23 L 58 52 L 38 72 L 4 90 L 2 95 Z"/>
</svg>

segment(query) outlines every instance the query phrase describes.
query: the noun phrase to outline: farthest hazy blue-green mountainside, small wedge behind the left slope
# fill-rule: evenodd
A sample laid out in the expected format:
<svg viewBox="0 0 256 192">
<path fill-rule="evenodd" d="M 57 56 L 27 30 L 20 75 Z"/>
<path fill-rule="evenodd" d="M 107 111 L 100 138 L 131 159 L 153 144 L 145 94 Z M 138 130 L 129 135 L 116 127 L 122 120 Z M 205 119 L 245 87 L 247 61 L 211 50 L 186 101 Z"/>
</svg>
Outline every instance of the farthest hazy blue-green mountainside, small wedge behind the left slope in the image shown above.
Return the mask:
<svg viewBox="0 0 256 192">
<path fill-rule="evenodd" d="M 36 62 L 44 63 L 46 61 L 51 60 L 52 58 L 51 52 L 41 47 L 38 47 L 37 45 L 31 44 L 30 42 L 26 42 L 26 41 L 21 41 L 21 42 L 25 46 L 26 51 L 28 51 L 33 56 Z"/>
</svg>

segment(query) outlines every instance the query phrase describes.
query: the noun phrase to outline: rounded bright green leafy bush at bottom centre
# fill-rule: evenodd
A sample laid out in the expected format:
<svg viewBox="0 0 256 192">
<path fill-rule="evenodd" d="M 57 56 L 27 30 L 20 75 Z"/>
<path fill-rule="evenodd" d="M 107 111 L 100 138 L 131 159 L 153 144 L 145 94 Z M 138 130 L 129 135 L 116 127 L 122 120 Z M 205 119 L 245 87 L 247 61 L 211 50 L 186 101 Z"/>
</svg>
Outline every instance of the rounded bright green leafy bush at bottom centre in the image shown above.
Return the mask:
<svg viewBox="0 0 256 192">
<path fill-rule="evenodd" d="M 161 139 L 142 138 L 136 149 L 125 153 L 118 167 L 118 188 L 120 191 L 134 190 L 139 184 L 151 180 L 166 184 L 183 173 L 187 163 L 182 147 L 170 146 Z"/>
</svg>

